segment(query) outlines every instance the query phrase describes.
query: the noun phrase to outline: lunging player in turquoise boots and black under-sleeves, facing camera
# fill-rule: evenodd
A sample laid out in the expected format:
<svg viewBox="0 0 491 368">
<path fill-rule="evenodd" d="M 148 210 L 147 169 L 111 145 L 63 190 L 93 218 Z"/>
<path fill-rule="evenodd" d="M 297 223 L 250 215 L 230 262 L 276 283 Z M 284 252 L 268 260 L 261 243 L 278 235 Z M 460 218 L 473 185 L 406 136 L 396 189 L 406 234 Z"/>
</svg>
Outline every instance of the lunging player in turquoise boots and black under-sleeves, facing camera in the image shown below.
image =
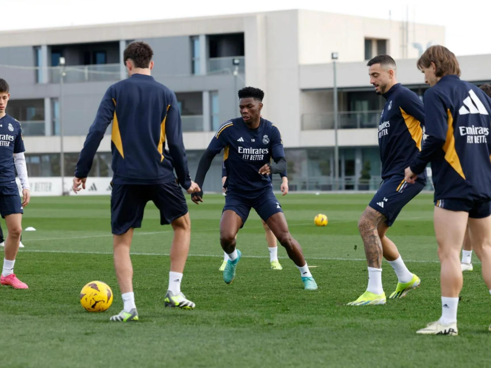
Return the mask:
<svg viewBox="0 0 491 368">
<path fill-rule="evenodd" d="M 291 236 L 281 205 L 273 193 L 271 158 L 276 163 L 274 172 L 277 173 L 286 170 L 286 159 L 278 128 L 261 117 L 263 98 L 264 92 L 259 88 L 245 87 L 239 91 L 242 117 L 229 120 L 218 128 L 199 161 L 196 184 L 202 186 L 213 158 L 223 149 L 228 163 L 227 195 L 220 220 L 220 244 L 229 257 L 223 271 L 225 283 L 234 280 L 242 255 L 236 249 L 235 237 L 253 208 L 299 268 L 304 289 L 315 290 L 317 284 L 303 258 L 300 244 Z M 202 191 L 191 194 L 196 204 L 203 202 L 202 197 Z"/>
</svg>

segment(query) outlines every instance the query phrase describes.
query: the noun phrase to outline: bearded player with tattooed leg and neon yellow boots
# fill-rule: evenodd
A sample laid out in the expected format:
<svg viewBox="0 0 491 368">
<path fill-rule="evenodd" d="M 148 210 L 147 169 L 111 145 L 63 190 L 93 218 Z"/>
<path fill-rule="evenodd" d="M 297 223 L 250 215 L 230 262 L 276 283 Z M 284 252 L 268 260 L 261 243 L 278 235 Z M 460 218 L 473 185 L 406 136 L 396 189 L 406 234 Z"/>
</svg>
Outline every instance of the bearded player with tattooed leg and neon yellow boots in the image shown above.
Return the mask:
<svg viewBox="0 0 491 368">
<path fill-rule="evenodd" d="M 389 55 L 376 56 L 367 66 L 375 93 L 387 100 L 379 124 L 383 183 L 358 222 L 368 262 L 368 287 L 358 299 L 348 303 L 355 306 L 385 304 L 382 256 L 398 279 L 390 299 L 402 298 L 419 286 L 419 277 L 408 270 L 386 233 L 402 208 L 426 185 L 424 173 L 414 185 L 404 181 L 404 169 L 421 150 L 423 103 L 414 92 L 397 82 L 396 63 Z"/>
</svg>

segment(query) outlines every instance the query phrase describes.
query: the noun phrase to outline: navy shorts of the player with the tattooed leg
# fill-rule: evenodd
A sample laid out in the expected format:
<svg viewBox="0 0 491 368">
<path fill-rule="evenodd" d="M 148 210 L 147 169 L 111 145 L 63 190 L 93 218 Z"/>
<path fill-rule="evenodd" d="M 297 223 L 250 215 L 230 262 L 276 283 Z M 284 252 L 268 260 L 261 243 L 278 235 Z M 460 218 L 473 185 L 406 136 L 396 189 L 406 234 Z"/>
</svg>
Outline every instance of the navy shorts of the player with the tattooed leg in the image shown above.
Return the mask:
<svg viewBox="0 0 491 368">
<path fill-rule="evenodd" d="M 402 175 L 393 175 L 385 179 L 369 206 L 382 213 L 387 219 L 387 226 L 392 226 L 402 208 L 413 199 L 426 185 L 425 179 L 417 179 L 409 184 Z"/>
</svg>

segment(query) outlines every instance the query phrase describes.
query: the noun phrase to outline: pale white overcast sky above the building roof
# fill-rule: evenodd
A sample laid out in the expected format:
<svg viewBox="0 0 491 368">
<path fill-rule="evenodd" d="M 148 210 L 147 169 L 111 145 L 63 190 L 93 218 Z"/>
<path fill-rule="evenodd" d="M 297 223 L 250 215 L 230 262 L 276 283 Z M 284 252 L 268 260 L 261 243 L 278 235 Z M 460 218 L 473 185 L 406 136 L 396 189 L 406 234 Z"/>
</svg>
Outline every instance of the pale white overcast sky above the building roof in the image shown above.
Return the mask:
<svg viewBox="0 0 491 368">
<path fill-rule="evenodd" d="M 136 6 L 140 5 L 141 6 Z M 0 30 L 134 22 L 282 9 L 311 9 L 445 26 L 457 55 L 491 53 L 490 0 L 0 0 Z M 409 9 L 407 12 L 406 9 Z"/>
</svg>

